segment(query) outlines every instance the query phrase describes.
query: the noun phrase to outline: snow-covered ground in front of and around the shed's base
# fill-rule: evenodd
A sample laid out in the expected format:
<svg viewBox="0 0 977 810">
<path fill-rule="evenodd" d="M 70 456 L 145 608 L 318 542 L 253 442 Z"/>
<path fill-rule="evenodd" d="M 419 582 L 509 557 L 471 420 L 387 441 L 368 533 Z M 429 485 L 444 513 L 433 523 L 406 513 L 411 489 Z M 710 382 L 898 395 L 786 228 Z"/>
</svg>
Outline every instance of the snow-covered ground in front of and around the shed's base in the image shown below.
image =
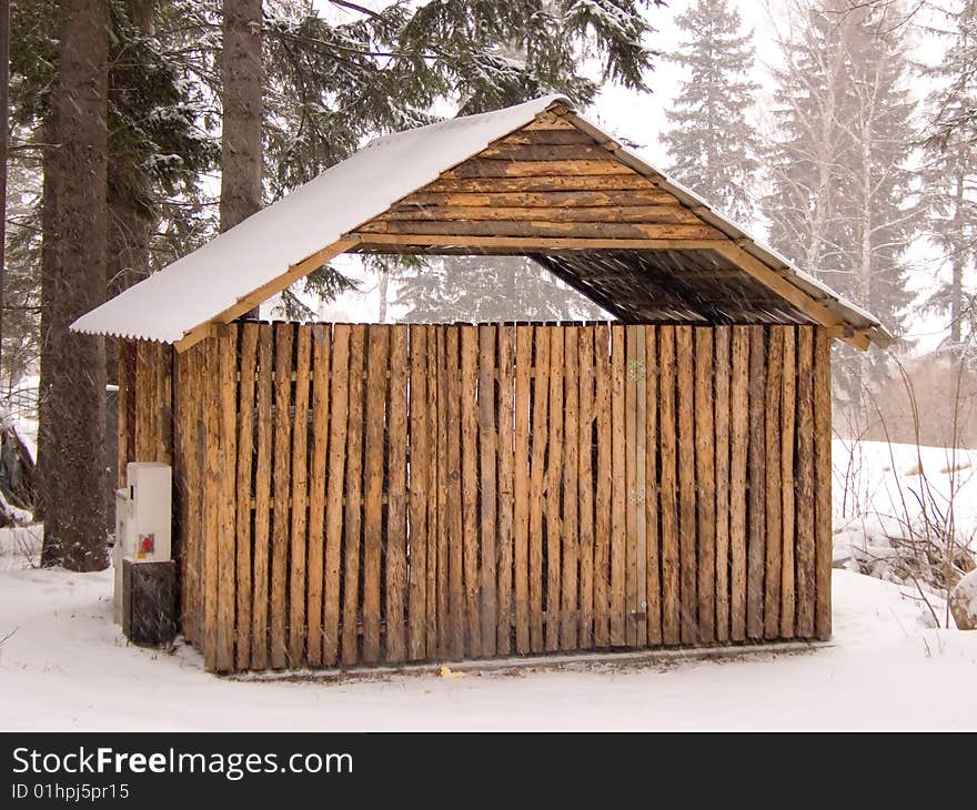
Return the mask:
<svg viewBox="0 0 977 810">
<path fill-rule="evenodd" d="M 0 549 L 0 729 L 975 729 L 977 632 L 909 588 L 836 570 L 833 646 L 572 671 L 242 682 L 187 647 L 128 646 L 111 574 Z M 460 674 L 454 674 L 460 675 Z"/>
</svg>

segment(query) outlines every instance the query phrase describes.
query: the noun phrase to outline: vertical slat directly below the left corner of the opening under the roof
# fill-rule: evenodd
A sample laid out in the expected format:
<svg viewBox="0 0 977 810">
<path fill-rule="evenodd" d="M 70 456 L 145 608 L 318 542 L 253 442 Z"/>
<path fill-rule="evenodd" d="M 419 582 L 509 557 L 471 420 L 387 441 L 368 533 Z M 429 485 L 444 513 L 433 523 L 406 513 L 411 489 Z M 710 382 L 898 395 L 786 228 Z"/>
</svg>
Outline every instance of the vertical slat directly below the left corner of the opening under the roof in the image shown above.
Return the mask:
<svg viewBox="0 0 977 810">
<path fill-rule="evenodd" d="M 205 345 L 201 347 L 201 352 Z M 271 535 L 272 373 L 273 333 L 271 324 L 258 326 L 258 447 L 254 464 L 254 559 L 251 599 L 251 666 L 268 666 L 269 550 Z"/>
</svg>

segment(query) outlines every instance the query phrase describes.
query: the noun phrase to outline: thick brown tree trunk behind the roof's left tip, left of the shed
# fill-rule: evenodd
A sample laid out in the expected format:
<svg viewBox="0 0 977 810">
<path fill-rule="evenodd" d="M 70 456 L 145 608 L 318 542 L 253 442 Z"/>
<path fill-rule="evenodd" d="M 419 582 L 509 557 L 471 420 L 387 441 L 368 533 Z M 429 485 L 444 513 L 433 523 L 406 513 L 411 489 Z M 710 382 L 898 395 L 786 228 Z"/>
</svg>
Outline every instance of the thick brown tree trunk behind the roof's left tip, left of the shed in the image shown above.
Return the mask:
<svg viewBox="0 0 977 810">
<path fill-rule="evenodd" d="M 103 0 L 60 7 L 52 121 L 44 159 L 41 267 L 43 565 L 105 567 L 105 351 L 68 332 L 105 296 L 107 36 Z"/>
</svg>

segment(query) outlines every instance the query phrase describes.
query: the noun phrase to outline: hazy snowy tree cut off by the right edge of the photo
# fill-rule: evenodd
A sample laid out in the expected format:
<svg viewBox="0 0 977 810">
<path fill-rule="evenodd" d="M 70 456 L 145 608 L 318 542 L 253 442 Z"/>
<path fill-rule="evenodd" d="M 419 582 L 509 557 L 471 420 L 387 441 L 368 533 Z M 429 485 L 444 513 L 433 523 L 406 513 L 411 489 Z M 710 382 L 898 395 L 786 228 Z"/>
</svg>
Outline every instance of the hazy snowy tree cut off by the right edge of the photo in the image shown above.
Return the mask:
<svg viewBox="0 0 977 810">
<path fill-rule="evenodd" d="M 927 99 L 923 188 L 927 235 L 949 265 L 949 280 L 939 280 L 926 306 L 946 317 L 946 347 L 960 352 L 977 336 L 977 2 L 965 0 L 947 22 L 946 53 L 930 71 L 939 84 Z"/>
</svg>

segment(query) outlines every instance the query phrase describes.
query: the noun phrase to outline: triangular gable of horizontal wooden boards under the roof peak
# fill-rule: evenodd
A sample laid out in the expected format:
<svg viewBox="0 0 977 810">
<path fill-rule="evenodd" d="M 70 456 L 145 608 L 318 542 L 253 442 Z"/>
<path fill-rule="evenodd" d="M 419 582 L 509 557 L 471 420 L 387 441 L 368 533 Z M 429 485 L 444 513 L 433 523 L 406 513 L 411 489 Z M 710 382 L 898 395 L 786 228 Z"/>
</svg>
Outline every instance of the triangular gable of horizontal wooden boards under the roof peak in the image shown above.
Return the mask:
<svg viewBox="0 0 977 810">
<path fill-rule="evenodd" d="M 726 239 L 617 160 L 607 148 L 615 145 L 546 113 L 443 172 L 356 233 L 367 244 L 389 244 L 391 236 Z"/>
</svg>

